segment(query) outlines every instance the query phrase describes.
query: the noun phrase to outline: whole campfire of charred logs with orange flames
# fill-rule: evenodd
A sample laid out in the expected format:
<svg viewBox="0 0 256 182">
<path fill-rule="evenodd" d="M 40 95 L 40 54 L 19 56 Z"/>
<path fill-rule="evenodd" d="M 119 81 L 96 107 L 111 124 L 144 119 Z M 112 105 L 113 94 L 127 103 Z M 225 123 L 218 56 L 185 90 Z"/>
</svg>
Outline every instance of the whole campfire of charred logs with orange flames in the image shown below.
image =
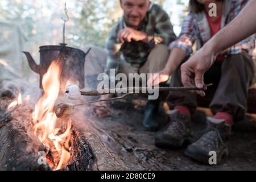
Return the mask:
<svg viewBox="0 0 256 182">
<path fill-rule="evenodd" d="M 54 61 L 53 65 L 57 66 Z M 79 115 L 72 123 L 70 118 L 63 122 L 55 117 L 60 72 L 54 66 L 48 71 L 42 80 L 44 94 L 35 108 L 18 100 L 9 108 L 1 106 L 0 169 L 127 169 L 86 117 Z"/>
</svg>

